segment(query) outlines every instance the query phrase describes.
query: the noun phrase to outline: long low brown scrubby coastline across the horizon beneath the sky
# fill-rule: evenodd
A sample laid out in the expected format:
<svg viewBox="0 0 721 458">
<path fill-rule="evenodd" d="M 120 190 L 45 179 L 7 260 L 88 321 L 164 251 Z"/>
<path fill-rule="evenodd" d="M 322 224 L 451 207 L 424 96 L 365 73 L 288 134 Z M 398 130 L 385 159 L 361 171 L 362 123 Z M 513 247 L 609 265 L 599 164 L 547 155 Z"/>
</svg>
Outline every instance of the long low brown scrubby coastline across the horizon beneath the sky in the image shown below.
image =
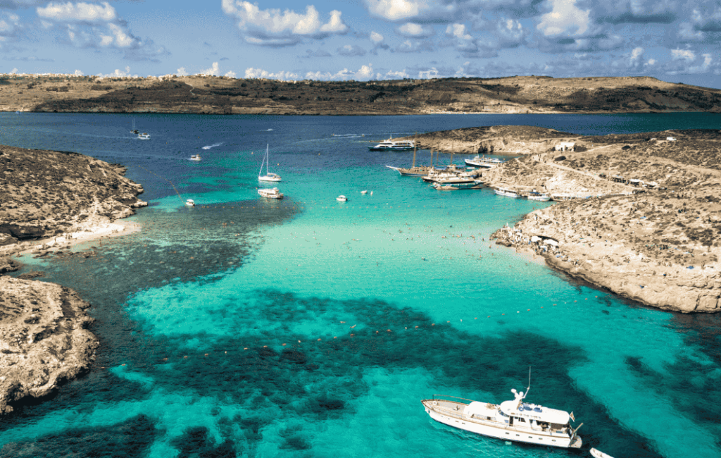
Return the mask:
<svg viewBox="0 0 721 458">
<path fill-rule="evenodd" d="M 225 76 L 0 76 L 0 111 L 420 115 L 721 110 L 721 90 L 647 76 L 284 82 Z"/>
</svg>

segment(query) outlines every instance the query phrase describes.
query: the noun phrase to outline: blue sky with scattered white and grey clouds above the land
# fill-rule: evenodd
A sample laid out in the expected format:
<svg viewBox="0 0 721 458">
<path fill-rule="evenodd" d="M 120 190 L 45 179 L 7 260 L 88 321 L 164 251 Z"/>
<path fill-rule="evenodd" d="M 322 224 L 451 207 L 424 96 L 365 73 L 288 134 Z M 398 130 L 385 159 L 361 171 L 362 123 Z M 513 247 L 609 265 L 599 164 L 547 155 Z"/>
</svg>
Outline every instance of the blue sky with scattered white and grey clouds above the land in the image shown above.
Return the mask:
<svg viewBox="0 0 721 458">
<path fill-rule="evenodd" d="M 654 76 L 721 88 L 720 0 L 0 0 L 0 73 Z"/>
</svg>

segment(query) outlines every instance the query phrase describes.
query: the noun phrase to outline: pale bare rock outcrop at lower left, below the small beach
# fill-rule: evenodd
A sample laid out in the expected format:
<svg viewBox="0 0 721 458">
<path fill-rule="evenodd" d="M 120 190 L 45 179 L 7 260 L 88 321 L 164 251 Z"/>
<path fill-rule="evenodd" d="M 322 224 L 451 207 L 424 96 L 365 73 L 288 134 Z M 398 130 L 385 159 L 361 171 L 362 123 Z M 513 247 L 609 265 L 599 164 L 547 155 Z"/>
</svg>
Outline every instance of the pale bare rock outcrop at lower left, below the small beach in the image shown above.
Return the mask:
<svg viewBox="0 0 721 458">
<path fill-rule="evenodd" d="M 98 347 L 90 305 L 54 283 L 0 277 L 0 413 L 87 371 Z"/>
</svg>

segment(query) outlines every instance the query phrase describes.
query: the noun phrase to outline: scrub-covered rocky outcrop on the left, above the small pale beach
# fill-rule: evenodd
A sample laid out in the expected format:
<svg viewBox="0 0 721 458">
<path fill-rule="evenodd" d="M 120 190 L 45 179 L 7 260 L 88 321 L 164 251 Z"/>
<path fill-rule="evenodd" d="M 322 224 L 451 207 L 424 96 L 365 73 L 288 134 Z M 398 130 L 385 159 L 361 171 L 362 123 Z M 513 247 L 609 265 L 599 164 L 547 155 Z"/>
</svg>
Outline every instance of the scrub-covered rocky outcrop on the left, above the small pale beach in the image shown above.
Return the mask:
<svg viewBox="0 0 721 458">
<path fill-rule="evenodd" d="M 130 216 L 147 204 L 123 173 L 82 154 L 0 146 L 0 245 Z"/>
</svg>

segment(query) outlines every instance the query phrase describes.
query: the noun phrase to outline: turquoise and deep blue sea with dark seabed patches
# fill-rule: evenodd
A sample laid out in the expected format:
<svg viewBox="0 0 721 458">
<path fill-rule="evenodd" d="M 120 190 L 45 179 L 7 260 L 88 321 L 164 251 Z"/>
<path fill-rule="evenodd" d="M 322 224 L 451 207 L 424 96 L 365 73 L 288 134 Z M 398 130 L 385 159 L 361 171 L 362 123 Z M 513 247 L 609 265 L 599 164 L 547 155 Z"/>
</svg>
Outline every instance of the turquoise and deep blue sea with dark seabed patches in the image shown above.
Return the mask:
<svg viewBox="0 0 721 458">
<path fill-rule="evenodd" d="M 720 457 L 719 315 L 643 307 L 497 246 L 492 232 L 553 203 L 434 190 L 385 167 L 412 152 L 368 151 L 510 124 L 631 133 L 721 115 L 1 113 L 0 144 L 123 164 L 149 207 L 129 218 L 140 232 L 74 248 L 96 257 L 22 258 L 14 275 L 92 304 L 100 347 L 87 374 L 0 419 L 0 457 Z M 257 180 L 266 149 L 282 201 L 257 194 L 273 187 Z M 529 386 L 583 423 L 580 451 L 421 405 Z"/>
</svg>

